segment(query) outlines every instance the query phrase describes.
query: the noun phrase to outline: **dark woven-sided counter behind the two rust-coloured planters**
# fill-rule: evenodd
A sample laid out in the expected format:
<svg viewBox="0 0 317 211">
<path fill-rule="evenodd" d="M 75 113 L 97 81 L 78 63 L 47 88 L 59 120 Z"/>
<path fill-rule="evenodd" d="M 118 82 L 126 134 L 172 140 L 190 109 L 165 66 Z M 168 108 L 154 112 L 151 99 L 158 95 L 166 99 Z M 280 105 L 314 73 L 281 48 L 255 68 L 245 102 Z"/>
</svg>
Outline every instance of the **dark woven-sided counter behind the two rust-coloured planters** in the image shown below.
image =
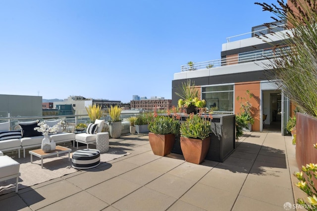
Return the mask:
<svg viewBox="0 0 317 211">
<path fill-rule="evenodd" d="M 223 162 L 235 149 L 235 115 L 213 114 L 212 117 L 210 147 L 205 159 Z M 179 136 L 172 153 L 182 155 Z"/>
</svg>

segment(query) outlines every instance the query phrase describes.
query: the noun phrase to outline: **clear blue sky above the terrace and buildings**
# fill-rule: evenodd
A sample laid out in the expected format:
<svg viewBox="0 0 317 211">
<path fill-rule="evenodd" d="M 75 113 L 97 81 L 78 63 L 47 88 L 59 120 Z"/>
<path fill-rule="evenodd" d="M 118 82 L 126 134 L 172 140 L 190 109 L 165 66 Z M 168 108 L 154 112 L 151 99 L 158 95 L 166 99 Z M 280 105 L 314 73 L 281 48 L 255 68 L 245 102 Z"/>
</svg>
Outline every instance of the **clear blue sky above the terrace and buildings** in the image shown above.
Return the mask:
<svg viewBox="0 0 317 211">
<path fill-rule="evenodd" d="M 271 21 L 254 2 L 0 0 L 0 94 L 171 99 L 182 64 Z"/>
</svg>

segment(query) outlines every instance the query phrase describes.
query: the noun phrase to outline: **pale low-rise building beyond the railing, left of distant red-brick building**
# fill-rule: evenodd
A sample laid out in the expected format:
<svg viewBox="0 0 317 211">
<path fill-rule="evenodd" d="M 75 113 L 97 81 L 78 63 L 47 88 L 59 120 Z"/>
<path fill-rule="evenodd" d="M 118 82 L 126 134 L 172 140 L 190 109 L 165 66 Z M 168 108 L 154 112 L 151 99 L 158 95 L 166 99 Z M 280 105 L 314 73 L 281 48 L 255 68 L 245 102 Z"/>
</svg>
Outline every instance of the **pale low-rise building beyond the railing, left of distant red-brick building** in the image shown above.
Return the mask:
<svg viewBox="0 0 317 211">
<path fill-rule="evenodd" d="M 76 111 L 78 115 L 87 114 L 86 107 L 90 105 L 101 105 L 103 110 L 107 110 L 110 106 L 121 106 L 121 101 L 109 101 L 102 99 L 91 99 L 84 98 L 82 96 L 69 96 L 67 99 L 64 99 L 62 102 L 53 102 L 54 108 L 62 108 L 61 105 L 70 105 L 72 109 Z M 67 106 L 68 107 L 68 106 Z M 70 112 L 70 109 L 61 109 L 65 112 Z"/>
</svg>

